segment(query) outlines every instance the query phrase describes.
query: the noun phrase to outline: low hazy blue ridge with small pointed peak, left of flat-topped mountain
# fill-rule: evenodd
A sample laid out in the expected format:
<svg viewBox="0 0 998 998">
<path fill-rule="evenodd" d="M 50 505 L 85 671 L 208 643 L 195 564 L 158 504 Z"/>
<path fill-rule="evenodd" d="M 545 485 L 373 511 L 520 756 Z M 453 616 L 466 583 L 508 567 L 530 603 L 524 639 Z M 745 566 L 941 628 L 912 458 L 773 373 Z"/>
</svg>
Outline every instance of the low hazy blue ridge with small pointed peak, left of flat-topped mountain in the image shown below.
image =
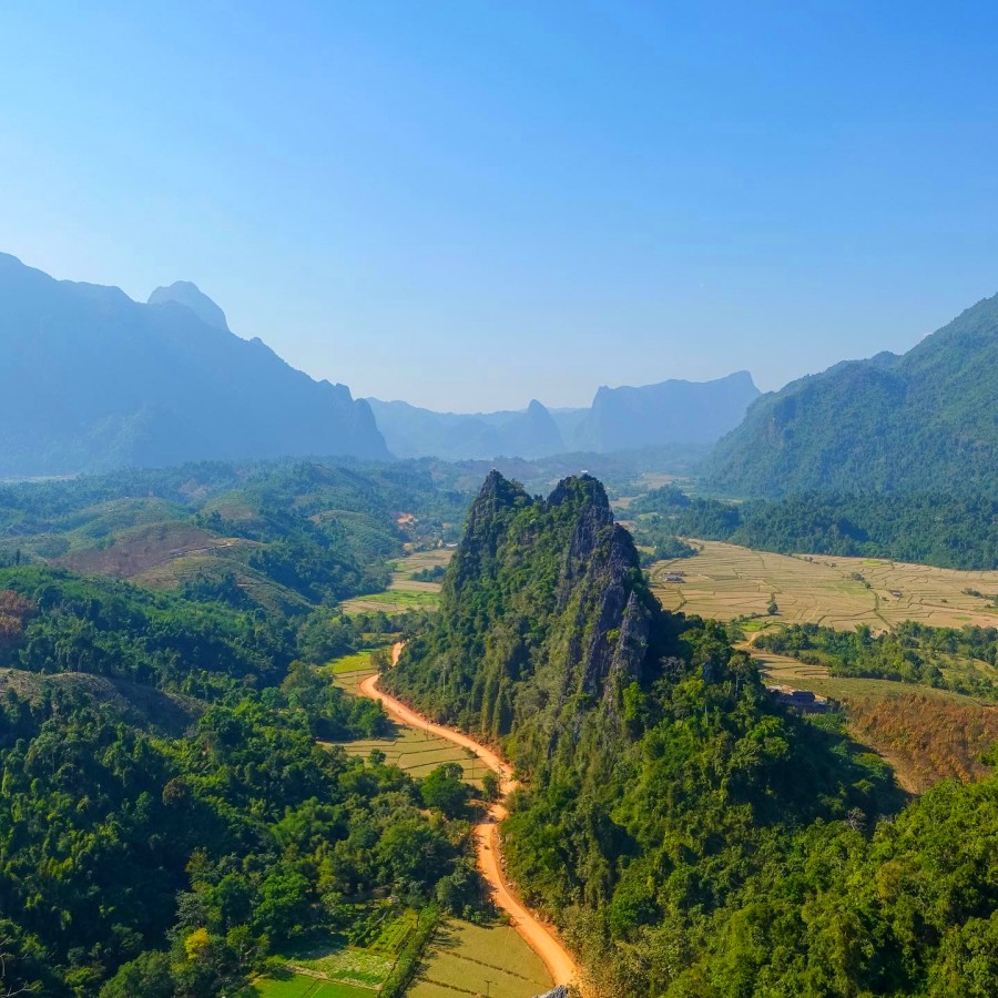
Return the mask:
<svg viewBox="0 0 998 998">
<path fill-rule="evenodd" d="M 566 451 L 551 414 L 537 399 L 522 411 L 434 413 L 404 401 L 369 398 L 378 427 L 397 457 L 475 460 L 539 458 Z"/>
</svg>

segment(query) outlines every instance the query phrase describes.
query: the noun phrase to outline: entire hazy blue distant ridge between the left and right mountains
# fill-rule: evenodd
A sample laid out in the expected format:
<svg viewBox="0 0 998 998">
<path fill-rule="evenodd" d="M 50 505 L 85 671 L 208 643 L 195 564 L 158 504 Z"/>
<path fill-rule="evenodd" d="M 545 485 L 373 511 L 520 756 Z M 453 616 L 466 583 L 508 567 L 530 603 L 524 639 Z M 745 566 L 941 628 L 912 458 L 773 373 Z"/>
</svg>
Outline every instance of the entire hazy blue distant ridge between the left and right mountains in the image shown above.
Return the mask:
<svg viewBox="0 0 998 998">
<path fill-rule="evenodd" d="M 534 399 L 518 413 L 460 415 L 367 400 L 398 457 L 465 460 L 610 454 L 670 445 L 706 447 L 737 426 L 758 395 L 752 375 L 743 370 L 713 381 L 604 386 L 589 409 L 549 410 Z"/>
</svg>

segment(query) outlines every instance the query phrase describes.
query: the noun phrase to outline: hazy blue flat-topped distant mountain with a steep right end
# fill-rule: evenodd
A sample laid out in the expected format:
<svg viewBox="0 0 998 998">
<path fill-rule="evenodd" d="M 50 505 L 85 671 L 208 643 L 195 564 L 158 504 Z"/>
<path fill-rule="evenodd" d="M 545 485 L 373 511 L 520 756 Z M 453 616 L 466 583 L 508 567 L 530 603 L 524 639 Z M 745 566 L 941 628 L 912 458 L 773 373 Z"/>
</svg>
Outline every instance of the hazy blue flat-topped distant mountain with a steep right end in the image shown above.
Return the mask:
<svg viewBox="0 0 998 998">
<path fill-rule="evenodd" d="M 736 427 L 760 390 L 747 370 L 713 381 L 669 380 L 597 391 L 571 449 L 607 454 L 669 444 L 713 444 Z"/>
</svg>

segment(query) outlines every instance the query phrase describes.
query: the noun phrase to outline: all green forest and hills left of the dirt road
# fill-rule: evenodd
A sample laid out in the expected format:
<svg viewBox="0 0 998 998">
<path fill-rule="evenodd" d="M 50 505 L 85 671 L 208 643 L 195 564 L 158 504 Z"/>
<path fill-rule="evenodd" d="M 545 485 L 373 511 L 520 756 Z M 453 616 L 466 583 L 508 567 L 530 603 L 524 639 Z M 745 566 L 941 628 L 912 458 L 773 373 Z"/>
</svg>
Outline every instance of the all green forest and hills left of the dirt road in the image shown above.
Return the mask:
<svg viewBox="0 0 998 998">
<path fill-rule="evenodd" d="M 477 900 L 467 814 L 328 744 L 388 724 L 317 666 L 425 628 L 336 609 L 444 529 L 458 500 L 409 473 L 213 465 L 0 490 L 0 994 L 233 994 L 295 940 Z M 401 510 L 420 513 L 408 533 Z M 155 584 L 114 578 L 128 554 L 85 560 L 139 560 L 177 527 L 196 550 L 157 551 Z M 205 538 L 247 550 L 213 561 Z"/>
</svg>

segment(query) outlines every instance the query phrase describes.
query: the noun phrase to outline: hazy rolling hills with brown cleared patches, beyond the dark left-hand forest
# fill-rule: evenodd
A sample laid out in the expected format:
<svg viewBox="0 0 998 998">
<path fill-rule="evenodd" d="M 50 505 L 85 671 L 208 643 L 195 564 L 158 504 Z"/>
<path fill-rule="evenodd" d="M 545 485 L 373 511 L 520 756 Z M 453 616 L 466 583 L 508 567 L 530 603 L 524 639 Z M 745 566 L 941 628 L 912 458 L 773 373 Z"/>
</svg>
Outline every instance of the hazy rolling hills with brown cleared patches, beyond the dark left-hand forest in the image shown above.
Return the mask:
<svg viewBox="0 0 998 998">
<path fill-rule="evenodd" d="M 0 486 L 0 566 L 305 613 L 384 588 L 404 543 L 440 539 L 466 502 L 420 465 L 213 462 Z"/>
</svg>

